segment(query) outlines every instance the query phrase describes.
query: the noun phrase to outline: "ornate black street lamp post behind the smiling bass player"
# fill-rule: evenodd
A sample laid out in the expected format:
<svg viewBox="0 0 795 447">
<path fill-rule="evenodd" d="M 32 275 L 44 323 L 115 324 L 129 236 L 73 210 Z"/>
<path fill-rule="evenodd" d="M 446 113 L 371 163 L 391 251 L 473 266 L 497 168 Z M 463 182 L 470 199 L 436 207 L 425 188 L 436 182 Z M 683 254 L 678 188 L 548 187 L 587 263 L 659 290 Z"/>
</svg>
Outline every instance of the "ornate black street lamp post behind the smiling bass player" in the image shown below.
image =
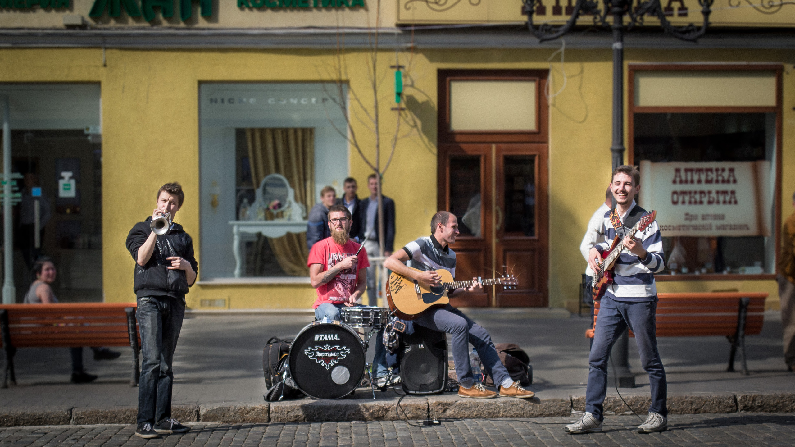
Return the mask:
<svg viewBox="0 0 795 447">
<path fill-rule="evenodd" d="M 533 24 L 533 14 L 545 8 L 541 0 L 522 0 L 522 14 L 527 16 L 527 27 L 538 40 L 553 41 L 571 31 L 581 16 L 593 16 L 594 25 L 610 27 L 613 31 L 613 144 L 610 147 L 613 160 L 613 169 L 619 167 L 624 161 L 624 31 L 636 25 L 642 25 L 646 16 L 657 17 L 665 33 L 683 41 L 698 41 L 699 37 L 707 33 L 709 14 L 715 0 L 698 0 L 704 23 L 697 27 L 692 23 L 687 26 L 677 27 L 671 25 L 669 15 L 673 15 L 673 8 L 663 8 L 660 0 L 603 0 L 604 9 L 599 10 L 596 0 L 576 0 L 572 8 L 572 15 L 564 25 L 553 26 L 547 23 Z M 567 8 L 568 10 L 568 8 Z M 568 12 L 568 11 L 567 11 Z M 613 23 L 609 23 L 609 17 Z M 624 25 L 624 17 L 629 18 L 629 23 Z M 628 331 L 624 331 L 616 341 L 611 351 L 614 378 L 618 379 L 619 387 L 634 388 L 635 377 L 630 371 L 627 361 L 629 357 Z"/>
</svg>

